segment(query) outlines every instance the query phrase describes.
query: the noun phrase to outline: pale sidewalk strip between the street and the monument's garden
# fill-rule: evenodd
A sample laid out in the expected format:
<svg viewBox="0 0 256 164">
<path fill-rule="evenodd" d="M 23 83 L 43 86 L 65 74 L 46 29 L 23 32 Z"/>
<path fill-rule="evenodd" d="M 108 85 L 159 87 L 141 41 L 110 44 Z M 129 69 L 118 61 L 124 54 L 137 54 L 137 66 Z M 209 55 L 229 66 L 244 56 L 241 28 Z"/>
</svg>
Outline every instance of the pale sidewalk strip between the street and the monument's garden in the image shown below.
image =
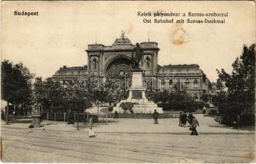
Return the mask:
<svg viewBox="0 0 256 164">
<path fill-rule="evenodd" d="M 198 134 L 254 134 L 254 127 L 242 127 L 241 130 L 233 129 L 226 125 L 221 125 L 213 120 L 212 117 L 195 115 L 199 121 Z M 153 124 L 153 119 L 109 119 L 109 123 L 95 124 L 95 133 L 122 133 L 122 134 L 189 134 L 189 127 L 180 127 L 179 118 L 159 119 L 158 125 Z M 64 130 L 77 131 L 77 125 L 67 125 L 66 122 L 43 121 L 44 125 L 39 129 L 33 130 Z M 28 129 L 30 124 L 11 124 L 5 125 L 2 122 L 2 128 Z M 79 124 L 79 131 L 87 131 L 86 125 Z"/>
</svg>

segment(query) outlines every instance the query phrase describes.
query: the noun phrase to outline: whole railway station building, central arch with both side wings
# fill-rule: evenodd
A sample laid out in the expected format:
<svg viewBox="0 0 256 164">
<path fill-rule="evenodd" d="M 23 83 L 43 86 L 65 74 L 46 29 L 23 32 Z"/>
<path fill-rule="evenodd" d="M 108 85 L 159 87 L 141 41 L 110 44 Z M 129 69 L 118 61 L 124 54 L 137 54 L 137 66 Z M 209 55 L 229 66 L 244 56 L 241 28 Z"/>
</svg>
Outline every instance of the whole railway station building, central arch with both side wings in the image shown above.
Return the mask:
<svg viewBox="0 0 256 164">
<path fill-rule="evenodd" d="M 196 64 L 191 65 L 158 65 L 158 44 L 156 42 L 140 43 L 143 49 L 141 61 L 144 79 L 147 86 L 154 90 L 174 90 L 174 84 L 180 89 L 186 89 L 193 98 L 199 99 L 202 93 L 210 93 L 210 81 Z M 84 77 L 96 77 L 105 80 L 109 77 L 119 78 L 125 83 L 131 76 L 131 58 L 135 45 L 121 34 L 111 46 L 89 44 L 87 66 L 61 67 L 52 77 L 61 83 L 75 82 Z"/>
</svg>

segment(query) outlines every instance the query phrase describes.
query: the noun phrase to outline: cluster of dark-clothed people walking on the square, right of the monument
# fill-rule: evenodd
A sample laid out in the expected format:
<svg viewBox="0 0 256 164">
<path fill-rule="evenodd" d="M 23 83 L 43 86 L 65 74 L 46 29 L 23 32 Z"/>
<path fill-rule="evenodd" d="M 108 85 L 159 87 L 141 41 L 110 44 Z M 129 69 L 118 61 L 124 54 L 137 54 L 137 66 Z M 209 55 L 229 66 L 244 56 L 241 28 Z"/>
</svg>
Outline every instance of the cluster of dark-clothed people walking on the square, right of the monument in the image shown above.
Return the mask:
<svg viewBox="0 0 256 164">
<path fill-rule="evenodd" d="M 186 112 L 179 113 L 179 126 L 186 127 L 187 122 L 189 122 L 189 130 L 191 130 L 191 135 L 198 135 L 197 127 L 199 126 L 198 119 L 193 116 L 192 112 L 189 112 L 189 116 Z"/>
</svg>

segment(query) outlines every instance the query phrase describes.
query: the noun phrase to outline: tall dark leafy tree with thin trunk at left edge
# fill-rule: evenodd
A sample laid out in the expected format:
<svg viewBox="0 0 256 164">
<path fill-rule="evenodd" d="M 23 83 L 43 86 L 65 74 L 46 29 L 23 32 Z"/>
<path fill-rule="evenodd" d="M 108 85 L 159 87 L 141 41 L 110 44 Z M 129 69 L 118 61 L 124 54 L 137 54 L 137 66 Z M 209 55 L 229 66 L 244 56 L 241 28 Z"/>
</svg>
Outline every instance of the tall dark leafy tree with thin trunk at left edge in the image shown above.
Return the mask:
<svg viewBox="0 0 256 164">
<path fill-rule="evenodd" d="M 34 77 L 22 63 L 13 65 L 12 62 L 1 62 L 2 99 L 7 101 L 7 114 L 9 103 L 21 104 L 27 107 L 31 103 L 31 80 Z M 8 117 L 8 116 L 7 116 Z M 8 123 L 8 120 L 7 120 Z"/>
</svg>

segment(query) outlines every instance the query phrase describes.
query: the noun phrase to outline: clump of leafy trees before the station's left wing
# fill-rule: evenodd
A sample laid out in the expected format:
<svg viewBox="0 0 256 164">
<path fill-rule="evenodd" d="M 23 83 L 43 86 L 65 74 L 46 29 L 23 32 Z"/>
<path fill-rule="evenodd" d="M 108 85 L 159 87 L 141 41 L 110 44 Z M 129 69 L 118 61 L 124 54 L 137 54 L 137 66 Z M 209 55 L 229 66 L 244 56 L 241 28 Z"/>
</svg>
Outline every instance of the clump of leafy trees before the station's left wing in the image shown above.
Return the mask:
<svg viewBox="0 0 256 164">
<path fill-rule="evenodd" d="M 49 112 L 84 112 L 91 107 L 91 98 L 88 92 L 80 89 L 76 82 L 64 82 L 63 84 L 51 79 L 35 80 L 35 98 L 41 107 Z"/>
</svg>

